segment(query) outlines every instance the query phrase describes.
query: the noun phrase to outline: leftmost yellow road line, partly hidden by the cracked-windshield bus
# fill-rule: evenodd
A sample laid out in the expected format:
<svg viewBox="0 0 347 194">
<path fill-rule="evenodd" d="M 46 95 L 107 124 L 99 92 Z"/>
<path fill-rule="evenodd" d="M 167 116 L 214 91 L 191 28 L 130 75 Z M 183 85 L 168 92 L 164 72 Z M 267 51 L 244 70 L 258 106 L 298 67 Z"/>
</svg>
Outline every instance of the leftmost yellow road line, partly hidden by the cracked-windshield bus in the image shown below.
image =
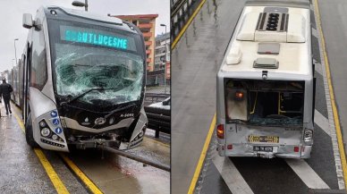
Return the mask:
<svg viewBox="0 0 347 194">
<path fill-rule="evenodd" d="M 21 131 L 23 131 L 25 133 L 23 122 L 21 122 L 21 119 L 18 117 L 17 114 L 15 114 L 14 112 L 13 112 L 13 114 L 14 114 L 14 117 L 17 119 L 17 122 L 19 123 L 20 127 L 21 127 Z M 52 181 L 53 185 L 55 186 L 56 192 L 58 194 L 69 193 L 69 191 L 66 189 L 65 185 L 63 185 L 63 181 L 59 178 L 58 174 L 55 173 L 55 169 L 49 163 L 49 161 L 47 160 L 47 157 L 42 152 L 42 150 L 40 148 L 34 148 L 34 152 L 35 152 L 36 156 L 38 156 L 39 162 L 41 162 L 41 164 L 45 168 L 49 179 Z"/>
</svg>

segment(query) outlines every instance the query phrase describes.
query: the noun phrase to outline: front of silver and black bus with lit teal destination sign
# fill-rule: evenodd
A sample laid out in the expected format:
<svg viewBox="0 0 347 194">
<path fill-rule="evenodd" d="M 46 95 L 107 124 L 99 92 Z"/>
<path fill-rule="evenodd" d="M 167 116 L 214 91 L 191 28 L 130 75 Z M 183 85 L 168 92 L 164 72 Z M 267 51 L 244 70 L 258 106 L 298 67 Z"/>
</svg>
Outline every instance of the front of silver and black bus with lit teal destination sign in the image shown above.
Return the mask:
<svg viewBox="0 0 347 194">
<path fill-rule="evenodd" d="M 30 146 L 139 145 L 147 126 L 143 109 L 146 54 L 142 34 L 113 17 L 43 7 L 30 29 L 23 59 L 23 107 Z"/>
</svg>

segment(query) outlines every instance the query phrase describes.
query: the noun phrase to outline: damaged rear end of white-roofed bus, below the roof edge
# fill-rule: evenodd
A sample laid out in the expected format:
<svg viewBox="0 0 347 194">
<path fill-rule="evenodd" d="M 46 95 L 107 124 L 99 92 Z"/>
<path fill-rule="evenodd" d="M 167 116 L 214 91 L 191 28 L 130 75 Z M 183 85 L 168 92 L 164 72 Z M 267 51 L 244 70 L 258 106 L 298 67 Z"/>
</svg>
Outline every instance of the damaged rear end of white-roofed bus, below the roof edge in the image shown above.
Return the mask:
<svg viewBox="0 0 347 194">
<path fill-rule="evenodd" d="M 220 156 L 308 158 L 312 147 L 312 85 L 304 80 L 221 78 L 217 102 Z M 221 88 L 218 88 L 221 89 Z M 310 105 L 306 105 L 310 103 Z"/>
</svg>

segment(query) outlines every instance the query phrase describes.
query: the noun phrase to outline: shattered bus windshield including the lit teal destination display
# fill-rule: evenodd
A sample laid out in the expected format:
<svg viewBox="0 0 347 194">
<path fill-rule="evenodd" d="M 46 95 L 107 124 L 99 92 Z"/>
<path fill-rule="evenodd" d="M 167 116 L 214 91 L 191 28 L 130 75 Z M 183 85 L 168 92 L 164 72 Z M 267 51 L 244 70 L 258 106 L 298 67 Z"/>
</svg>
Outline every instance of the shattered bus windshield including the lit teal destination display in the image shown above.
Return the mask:
<svg viewBox="0 0 347 194">
<path fill-rule="evenodd" d="M 135 38 L 69 26 L 58 32 L 52 46 L 57 95 L 73 98 L 93 89 L 79 100 L 120 104 L 140 99 L 144 65 Z"/>
</svg>

